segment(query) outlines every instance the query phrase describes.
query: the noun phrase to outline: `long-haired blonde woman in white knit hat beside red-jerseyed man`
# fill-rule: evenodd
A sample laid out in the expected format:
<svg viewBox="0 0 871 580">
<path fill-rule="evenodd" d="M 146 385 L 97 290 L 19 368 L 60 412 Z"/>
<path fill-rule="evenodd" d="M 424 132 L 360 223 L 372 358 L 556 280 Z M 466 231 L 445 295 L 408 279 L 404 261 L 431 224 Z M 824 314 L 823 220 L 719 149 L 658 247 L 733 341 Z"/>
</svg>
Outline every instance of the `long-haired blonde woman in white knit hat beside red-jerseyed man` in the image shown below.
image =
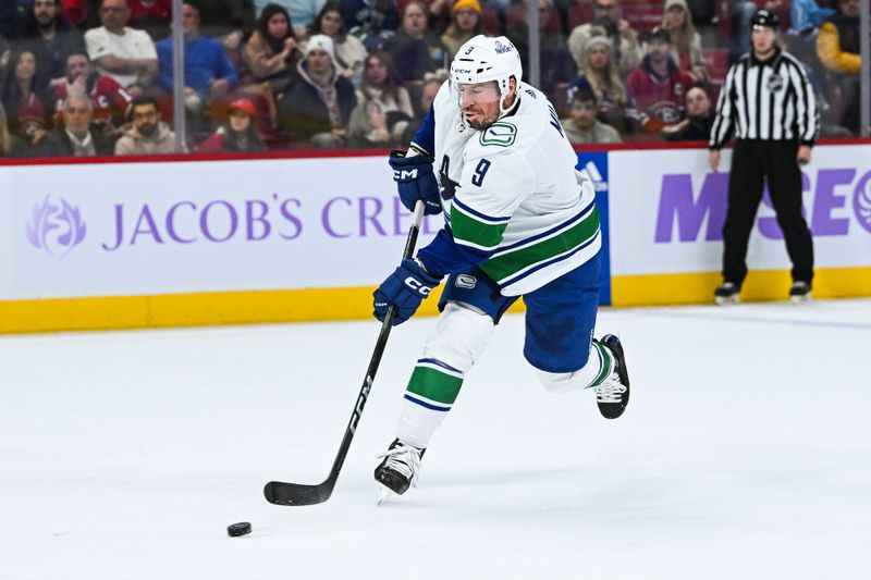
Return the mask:
<svg viewBox="0 0 871 580">
<path fill-rule="evenodd" d="M 612 58 L 614 45 L 598 26 L 590 29 L 580 63 L 580 76 L 568 87 L 569 98 L 575 90 L 589 87 L 596 95 L 598 119 L 611 125 L 621 135 L 638 129 L 638 111 L 626 92 L 617 65 Z"/>
</svg>

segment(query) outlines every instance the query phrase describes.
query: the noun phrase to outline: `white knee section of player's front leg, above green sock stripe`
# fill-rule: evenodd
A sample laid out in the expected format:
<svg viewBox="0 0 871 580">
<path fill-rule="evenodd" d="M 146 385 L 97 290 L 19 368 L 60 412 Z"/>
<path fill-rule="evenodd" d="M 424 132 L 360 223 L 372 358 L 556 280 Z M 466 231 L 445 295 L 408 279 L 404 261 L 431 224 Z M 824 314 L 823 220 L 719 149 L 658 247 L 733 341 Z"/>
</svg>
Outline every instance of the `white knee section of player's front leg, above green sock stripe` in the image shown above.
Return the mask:
<svg viewBox="0 0 871 580">
<path fill-rule="evenodd" d="M 465 373 L 478 361 L 492 335 L 493 319 L 451 301 L 430 331 L 421 358 L 439 360 Z"/>
</svg>

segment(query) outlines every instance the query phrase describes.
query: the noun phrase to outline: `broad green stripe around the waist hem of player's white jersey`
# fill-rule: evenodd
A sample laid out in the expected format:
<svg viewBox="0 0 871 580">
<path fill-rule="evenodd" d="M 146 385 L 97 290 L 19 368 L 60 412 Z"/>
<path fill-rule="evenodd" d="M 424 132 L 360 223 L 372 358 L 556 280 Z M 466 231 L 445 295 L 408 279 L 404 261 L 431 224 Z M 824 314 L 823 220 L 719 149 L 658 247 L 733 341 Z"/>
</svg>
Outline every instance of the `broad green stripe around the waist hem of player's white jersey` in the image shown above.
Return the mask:
<svg viewBox="0 0 871 580">
<path fill-rule="evenodd" d="M 596 237 L 598 232 L 599 208 L 593 207 L 589 215 L 565 232 L 529 246 L 494 256 L 481 264 L 481 270 L 499 282 L 537 263 L 571 252 Z"/>
</svg>

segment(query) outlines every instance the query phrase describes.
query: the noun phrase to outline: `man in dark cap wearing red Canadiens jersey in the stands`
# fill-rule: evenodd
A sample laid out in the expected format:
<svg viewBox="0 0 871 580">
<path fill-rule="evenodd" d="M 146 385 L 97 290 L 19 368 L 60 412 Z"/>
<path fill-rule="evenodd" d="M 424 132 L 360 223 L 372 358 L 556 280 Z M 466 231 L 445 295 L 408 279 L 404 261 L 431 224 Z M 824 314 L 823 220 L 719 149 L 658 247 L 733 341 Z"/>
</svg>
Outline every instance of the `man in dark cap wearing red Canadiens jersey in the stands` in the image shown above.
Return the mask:
<svg viewBox="0 0 871 580">
<path fill-rule="evenodd" d="M 645 60 L 626 79 L 626 91 L 638 107 L 645 132 L 659 132 L 684 119 L 684 99 L 692 79 L 672 60 L 672 48 L 668 30 L 653 28 Z"/>
</svg>

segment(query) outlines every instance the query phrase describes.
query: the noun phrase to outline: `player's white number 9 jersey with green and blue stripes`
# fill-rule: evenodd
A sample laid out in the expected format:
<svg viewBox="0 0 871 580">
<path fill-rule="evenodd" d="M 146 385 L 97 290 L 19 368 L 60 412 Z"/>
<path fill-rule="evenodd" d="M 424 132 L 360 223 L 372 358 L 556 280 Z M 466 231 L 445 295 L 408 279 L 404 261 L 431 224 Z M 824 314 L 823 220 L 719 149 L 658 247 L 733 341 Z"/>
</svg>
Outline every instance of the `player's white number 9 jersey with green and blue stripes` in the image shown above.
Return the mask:
<svg viewBox="0 0 871 580">
<path fill-rule="evenodd" d="M 479 267 L 505 296 L 543 286 L 601 247 L 592 184 L 575 171 L 577 155 L 553 106 L 525 83 L 517 95 L 512 113 L 477 131 L 445 82 L 429 151 L 453 242 L 489 256 Z"/>
</svg>

